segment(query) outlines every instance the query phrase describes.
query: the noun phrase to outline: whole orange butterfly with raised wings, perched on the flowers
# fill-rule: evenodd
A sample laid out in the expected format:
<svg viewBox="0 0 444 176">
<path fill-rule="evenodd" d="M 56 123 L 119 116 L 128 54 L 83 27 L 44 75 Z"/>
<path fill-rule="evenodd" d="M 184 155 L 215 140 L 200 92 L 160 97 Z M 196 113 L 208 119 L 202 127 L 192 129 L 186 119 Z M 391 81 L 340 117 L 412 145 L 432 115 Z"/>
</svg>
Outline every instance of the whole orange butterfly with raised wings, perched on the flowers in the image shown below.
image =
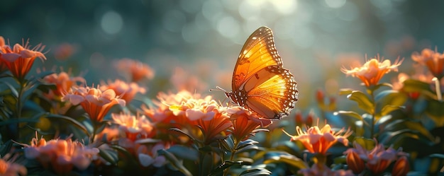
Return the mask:
<svg viewBox="0 0 444 176">
<path fill-rule="evenodd" d="M 298 100 L 297 83 L 274 46 L 272 30 L 255 30 L 240 50 L 236 61 L 232 91 L 225 91 L 231 102 L 267 119 L 289 115 Z"/>
</svg>

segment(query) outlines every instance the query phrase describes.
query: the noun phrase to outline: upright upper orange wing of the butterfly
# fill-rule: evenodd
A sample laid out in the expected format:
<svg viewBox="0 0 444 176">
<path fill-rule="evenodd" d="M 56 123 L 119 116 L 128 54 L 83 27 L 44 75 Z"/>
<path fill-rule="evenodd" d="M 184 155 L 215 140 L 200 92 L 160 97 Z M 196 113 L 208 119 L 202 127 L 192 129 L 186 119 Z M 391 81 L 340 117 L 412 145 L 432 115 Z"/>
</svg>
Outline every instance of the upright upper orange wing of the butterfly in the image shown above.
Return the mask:
<svg viewBox="0 0 444 176">
<path fill-rule="evenodd" d="M 272 65 L 282 67 L 282 59 L 274 47 L 272 30 L 261 27 L 248 37 L 240 50 L 233 71 L 232 90 L 239 90 L 257 71 Z"/>
</svg>

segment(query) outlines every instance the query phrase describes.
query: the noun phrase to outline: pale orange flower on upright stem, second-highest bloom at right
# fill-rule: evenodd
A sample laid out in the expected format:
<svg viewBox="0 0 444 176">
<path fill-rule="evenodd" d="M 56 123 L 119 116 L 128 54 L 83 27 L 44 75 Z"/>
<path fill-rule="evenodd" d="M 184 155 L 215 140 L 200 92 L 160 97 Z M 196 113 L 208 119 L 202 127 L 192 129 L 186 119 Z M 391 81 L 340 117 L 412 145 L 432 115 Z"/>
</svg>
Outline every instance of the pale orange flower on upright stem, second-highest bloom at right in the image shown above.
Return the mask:
<svg viewBox="0 0 444 176">
<path fill-rule="evenodd" d="M 360 78 L 365 86 L 376 86 L 379 80 L 384 76 L 384 74 L 390 71 L 398 71 L 398 66 L 401 65 L 402 60 L 396 60 L 392 65 L 390 60 L 386 59 L 379 62 L 379 57 L 377 59 L 370 59 L 370 61 L 365 62 L 363 66 L 355 67 L 353 69 L 345 69 L 344 67 L 340 69 L 347 76 L 351 75 L 353 77 Z"/>
</svg>

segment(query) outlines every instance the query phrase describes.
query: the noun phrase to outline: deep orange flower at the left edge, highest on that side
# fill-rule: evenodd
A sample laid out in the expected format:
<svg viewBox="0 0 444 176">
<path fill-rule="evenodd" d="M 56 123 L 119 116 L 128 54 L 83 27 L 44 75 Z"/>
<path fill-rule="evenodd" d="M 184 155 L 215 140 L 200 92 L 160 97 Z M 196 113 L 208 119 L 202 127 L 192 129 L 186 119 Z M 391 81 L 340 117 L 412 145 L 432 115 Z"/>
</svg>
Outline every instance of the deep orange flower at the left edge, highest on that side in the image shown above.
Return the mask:
<svg viewBox="0 0 444 176">
<path fill-rule="evenodd" d="M 18 80 L 23 80 L 28 74 L 30 68 L 34 64 L 36 57 L 45 60 L 46 57 L 42 53 L 45 45 L 39 44 L 30 49 L 29 40 L 25 44 L 16 44 L 11 49 L 9 45 L 5 45 L 4 38 L 0 36 L 0 60 L 1 64 L 6 64 L 11 74 Z"/>
</svg>

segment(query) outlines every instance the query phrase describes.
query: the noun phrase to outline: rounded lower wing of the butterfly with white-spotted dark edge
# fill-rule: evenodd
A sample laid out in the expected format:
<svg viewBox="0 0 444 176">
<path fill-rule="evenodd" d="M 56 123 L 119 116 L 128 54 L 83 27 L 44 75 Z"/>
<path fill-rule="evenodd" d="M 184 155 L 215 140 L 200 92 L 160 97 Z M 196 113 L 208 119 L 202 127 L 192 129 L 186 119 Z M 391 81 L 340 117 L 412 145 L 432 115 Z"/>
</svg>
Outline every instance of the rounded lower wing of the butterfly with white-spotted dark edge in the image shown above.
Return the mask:
<svg viewBox="0 0 444 176">
<path fill-rule="evenodd" d="M 298 90 L 294 76 L 279 66 L 267 66 L 245 82 L 245 105 L 258 115 L 281 119 L 289 115 Z"/>
</svg>

